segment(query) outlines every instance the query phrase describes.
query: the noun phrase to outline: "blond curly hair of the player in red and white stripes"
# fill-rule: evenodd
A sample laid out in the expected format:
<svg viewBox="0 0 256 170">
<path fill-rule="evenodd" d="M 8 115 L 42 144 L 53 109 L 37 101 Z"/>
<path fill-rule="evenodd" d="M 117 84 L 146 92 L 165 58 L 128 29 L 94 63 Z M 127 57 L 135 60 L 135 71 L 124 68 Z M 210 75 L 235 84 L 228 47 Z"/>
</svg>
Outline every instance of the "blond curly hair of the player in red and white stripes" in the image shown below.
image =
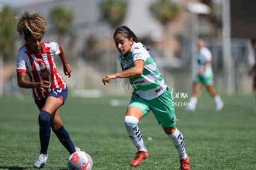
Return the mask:
<svg viewBox="0 0 256 170">
<path fill-rule="evenodd" d="M 22 15 L 16 18 L 18 20 L 16 30 L 25 40 L 31 35 L 44 35 L 46 32 L 46 19 L 38 12 L 25 11 Z"/>
</svg>

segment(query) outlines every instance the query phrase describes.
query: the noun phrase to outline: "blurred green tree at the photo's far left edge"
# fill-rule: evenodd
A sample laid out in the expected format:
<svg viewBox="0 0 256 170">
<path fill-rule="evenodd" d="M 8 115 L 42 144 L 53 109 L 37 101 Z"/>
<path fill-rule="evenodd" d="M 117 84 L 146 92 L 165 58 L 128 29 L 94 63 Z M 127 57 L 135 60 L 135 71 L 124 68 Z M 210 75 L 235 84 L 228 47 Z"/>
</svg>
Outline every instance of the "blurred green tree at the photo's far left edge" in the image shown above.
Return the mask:
<svg viewBox="0 0 256 170">
<path fill-rule="evenodd" d="M 0 11 L 0 56 L 4 57 L 4 60 L 11 59 L 14 55 L 14 44 L 17 38 L 15 15 L 17 13 L 10 6 L 4 6 Z"/>
</svg>

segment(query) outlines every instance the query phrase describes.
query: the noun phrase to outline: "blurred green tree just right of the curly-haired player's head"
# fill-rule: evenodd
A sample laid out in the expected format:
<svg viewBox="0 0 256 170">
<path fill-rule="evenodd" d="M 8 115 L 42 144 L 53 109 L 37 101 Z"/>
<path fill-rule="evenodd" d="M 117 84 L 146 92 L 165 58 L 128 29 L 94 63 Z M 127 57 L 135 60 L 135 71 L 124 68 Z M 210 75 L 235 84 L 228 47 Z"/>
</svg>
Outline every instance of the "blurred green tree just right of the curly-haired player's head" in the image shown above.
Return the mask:
<svg viewBox="0 0 256 170">
<path fill-rule="evenodd" d="M 51 9 L 49 18 L 58 32 L 59 43 L 62 43 L 64 35 L 72 33 L 70 30 L 74 22 L 74 12 L 67 7 L 58 6 Z"/>
</svg>

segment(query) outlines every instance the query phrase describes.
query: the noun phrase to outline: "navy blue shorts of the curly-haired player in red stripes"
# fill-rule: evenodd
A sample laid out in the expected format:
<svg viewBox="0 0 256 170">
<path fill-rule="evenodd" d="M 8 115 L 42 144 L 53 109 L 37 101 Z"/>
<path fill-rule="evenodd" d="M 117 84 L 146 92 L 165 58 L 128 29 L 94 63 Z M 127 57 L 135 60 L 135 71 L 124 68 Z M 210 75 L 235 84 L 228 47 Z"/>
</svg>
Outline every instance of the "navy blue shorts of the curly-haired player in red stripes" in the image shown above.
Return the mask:
<svg viewBox="0 0 256 170">
<path fill-rule="evenodd" d="M 54 98 L 60 98 L 64 104 L 67 100 L 67 91 L 67 88 L 54 88 L 49 92 L 46 98 L 48 98 L 49 96 L 53 96 Z M 35 100 L 35 104 L 40 110 L 43 108 L 43 106 L 45 106 L 46 98 L 42 100 Z"/>
</svg>

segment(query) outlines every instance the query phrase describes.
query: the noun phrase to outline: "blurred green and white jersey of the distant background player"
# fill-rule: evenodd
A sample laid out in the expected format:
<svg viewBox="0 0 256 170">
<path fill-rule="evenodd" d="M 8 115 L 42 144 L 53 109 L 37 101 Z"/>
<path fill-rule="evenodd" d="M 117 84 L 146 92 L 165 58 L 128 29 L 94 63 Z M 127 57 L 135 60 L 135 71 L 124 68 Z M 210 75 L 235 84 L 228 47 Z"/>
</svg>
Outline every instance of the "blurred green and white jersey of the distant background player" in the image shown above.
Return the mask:
<svg viewBox="0 0 256 170">
<path fill-rule="evenodd" d="M 205 65 L 205 62 L 211 61 L 211 51 L 208 48 L 201 48 L 197 52 L 197 62 L 198 62 L 198 71 L 202 69 Z M 203 73 L 203 77 L 208 77 L 213 75 L 213 70 L 211 69 L 211 64 L 205 68 L 205 72 Z"/>
</svg>

